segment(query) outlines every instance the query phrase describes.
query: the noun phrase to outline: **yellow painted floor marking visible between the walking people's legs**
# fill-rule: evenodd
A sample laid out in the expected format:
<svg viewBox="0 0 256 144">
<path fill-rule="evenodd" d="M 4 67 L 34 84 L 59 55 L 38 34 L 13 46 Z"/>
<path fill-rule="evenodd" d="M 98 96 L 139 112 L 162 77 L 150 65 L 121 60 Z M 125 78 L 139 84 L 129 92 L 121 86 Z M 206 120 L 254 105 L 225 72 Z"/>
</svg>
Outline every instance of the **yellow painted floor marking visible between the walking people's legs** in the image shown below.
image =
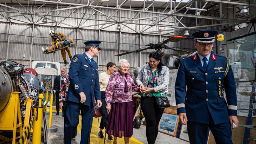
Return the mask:
<svg viewBox="0 0 256 144">
<path fill-rule="evenodd" d="M 77 130 L 81 135 L 81 127 L 82 127 L 82 117 L 79 115 L 79 124 L 77 126 Z M 99 123 L 101 122 L 101 117 L 99 118 Z M 103 144 L 104 143 L 104 138 L 99 138 L 98 137 L 98 132 L 99 132 L 99 127 L 100 124 L 98 124 L 98 118 L 93 118 L 92 122 L 92 127 L 91 127 L 91 135 L 90 135 L 90 144 Z M 103 130 L 103 135 L 105 136 L 105 129 Z M 106 142 L 105 144 L 113 144 L 113 140 L 108 140 L 108 135 L 106 135 Z M 117 138 L 117 143 L 118 144 L 124 144 L 124 139 L 122 138 Z M 130 144 L 143 144 L 139 140 L 135 139 L 134 137 L 130 138 Z"/>
</svg>

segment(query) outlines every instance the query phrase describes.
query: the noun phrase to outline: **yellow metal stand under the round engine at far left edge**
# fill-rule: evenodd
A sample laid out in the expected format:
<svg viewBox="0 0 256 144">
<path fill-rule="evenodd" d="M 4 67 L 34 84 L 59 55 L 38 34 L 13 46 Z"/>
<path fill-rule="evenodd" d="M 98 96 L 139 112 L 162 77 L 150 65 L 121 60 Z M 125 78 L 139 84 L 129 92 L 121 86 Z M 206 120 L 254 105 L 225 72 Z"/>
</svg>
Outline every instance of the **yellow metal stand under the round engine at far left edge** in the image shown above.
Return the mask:
<svg viewBox="0 0 256 144">
<path fill-rule="evenodd" d="M 11 99 L 8 106 L 0 113 L 0 130 L 13 131 L 12 138 L 0 135 L 0 139 L 12 144 L 15 144 L 15 140 L 20 138 L 20 136 L 16 137 L 17 129 L 20 135 L 22 134 L 19 93 L 20 92 L 11 93 Z"/>
</svg>

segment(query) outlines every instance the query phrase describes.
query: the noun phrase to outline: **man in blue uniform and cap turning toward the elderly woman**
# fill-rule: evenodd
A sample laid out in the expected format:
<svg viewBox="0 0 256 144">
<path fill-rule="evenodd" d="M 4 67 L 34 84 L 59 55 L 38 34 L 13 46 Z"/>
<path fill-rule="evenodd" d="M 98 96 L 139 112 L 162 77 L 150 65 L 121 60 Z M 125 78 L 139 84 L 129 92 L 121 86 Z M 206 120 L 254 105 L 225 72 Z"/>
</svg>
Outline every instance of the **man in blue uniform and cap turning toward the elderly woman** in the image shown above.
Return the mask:
<svg viewBox="0 0 256 144">
<path fill-rule="evenodd" d="M 70 86 L 67 95 L 65 124 L 65 144 L 71 143 L 72 130 L 79 123 L 79 111 L 82 113 L 81 144 L 90 143 L 93 119 L 94 98 L 101 107 L 101 92 L 98 65 L 92 57 L 100 53 L 99 40 L 86 41 L 85 53 L 74 55 L 69 68 Z"/>
</svg>

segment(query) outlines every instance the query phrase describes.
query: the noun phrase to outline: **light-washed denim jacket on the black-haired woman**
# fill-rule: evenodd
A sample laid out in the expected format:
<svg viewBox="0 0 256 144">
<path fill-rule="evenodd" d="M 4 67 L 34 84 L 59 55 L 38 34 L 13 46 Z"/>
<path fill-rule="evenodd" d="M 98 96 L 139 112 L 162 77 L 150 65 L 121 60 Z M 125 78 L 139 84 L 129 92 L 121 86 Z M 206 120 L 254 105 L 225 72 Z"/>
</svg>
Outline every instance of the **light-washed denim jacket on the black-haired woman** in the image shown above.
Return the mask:
<svg viewBox="0 0 256 144">
<path fill-rule="evenodd" d="M 150 65 L 146 64 L 141 67 L 141 70 L 139 72 L 138 77 L 136 78 L 136 84 L 140 85 L 143 84 L 144 87 L 148 86 L 148 79 L 149 79 L 149 70 Z M 166 66 L 162 66 L 161 73 L 158 77 L 159 73 L 156 73 L 156 80 L 157 85 L 154 87 L 155 92 L 160 92 L 161 96 L 163 96 L 164 93 L 168 92 L 168 84 L 169 84 L 169 68 Z"/>
</svg>

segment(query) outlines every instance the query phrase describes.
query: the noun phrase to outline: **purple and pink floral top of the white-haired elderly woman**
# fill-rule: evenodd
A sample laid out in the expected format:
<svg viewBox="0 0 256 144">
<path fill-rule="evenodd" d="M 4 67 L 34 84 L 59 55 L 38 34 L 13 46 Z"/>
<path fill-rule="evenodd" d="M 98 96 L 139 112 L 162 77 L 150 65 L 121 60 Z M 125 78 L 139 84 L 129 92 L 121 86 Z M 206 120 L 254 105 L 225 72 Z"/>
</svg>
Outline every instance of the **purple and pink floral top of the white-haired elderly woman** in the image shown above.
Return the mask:
<svg viewBox="0 0 256 144">
<path fill-rule="evenodd" d="M 126 80 L 128 91 L 124 92 L 124 81 Z M 140 87 L 137 86 L 132 75 L 128 72 L 127 78 L 124 77 L 119 71 L 111 74 L 108 85 L 106 87 L 105 100 L 106 103 L 123 103 L 132 100 L 132 90 L 139 91 Z"/>
</svg>

